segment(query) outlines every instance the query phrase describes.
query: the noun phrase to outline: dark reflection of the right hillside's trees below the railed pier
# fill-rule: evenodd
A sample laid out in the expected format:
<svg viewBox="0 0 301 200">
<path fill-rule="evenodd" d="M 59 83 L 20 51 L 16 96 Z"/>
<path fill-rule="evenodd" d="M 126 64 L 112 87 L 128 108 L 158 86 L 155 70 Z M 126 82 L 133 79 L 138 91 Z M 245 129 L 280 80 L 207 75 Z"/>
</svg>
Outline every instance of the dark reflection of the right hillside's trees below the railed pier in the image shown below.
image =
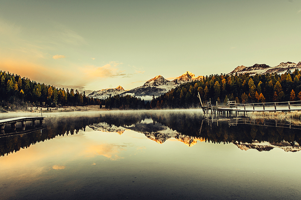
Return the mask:
<svg viewBox="0 0 301 200">
<path fill-rule="evenodd" d="M 293 145 L 294 142 L 299 144 L 301 142 L 301 131 L 298 129 L 256 126 L 253 124 L 237 124 L 237 126 L 229 127 L 227 121 L 219 122 L 218 126 L 217 123 L 210 126 L 204 120 L 200 132 L 200 126 L 203 119 L 198 116 L 185 114 L 179 116 L 177 114 L 171 114 L 168 118 L 164 118 L 160 115 L 152 115 L 152 118 L 154 121 L 161 123 L 172 130 L 177 130 L 183 135 L 201 137 L 206 141 L 213 143 L 229 143 L 236 141 L 252 143 L 254 140 L 257 140 L 258 142 L 266 141 L 271 144 L 287 141 Z"/>
</svg>

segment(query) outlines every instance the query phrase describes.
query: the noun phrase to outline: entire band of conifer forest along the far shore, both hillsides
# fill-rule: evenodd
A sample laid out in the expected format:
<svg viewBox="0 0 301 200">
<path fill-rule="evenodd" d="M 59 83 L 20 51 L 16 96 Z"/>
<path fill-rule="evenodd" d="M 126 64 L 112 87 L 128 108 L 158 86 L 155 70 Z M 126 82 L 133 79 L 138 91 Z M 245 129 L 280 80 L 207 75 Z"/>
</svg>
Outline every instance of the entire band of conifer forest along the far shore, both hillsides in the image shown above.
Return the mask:
<svg viewBox="0 0 301 200">
<path fill-rule="evenodd" d="M 301 71 L 295 70 L 249 76 L 248 74 L 216 74 L 200 81 L 186 82 L 169 92 L 153 97 L 151 101 L 130 95 L 116 95 L 106 100 L 86 97 L 85 92 L 66 90 L 21 78 L 0 70 L 0 106 L 3 109 L 21 109 L 28 106 L 85 106 L 100 105 L 110 109 L 169 109 L 199 107 L 211 100 L 220 105 L 227 100 L 236 103 L 263 103 L 301 100 Z"/>
</svg>

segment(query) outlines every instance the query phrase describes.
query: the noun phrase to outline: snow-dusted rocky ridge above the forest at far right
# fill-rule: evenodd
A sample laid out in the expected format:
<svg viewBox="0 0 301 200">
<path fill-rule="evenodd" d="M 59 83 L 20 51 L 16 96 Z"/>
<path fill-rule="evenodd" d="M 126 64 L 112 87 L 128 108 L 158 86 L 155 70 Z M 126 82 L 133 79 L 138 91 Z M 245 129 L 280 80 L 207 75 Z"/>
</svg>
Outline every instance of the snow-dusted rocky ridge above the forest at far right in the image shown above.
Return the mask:
<svg viewBox="0 0 301 200">
<path fill-rule="evenodd" d="M 291 70 L 292 72 L 295 69 L 301 70 L 301 62 L 298 64 L 293 62 L 282 62 L 279 65 L 275 67 L 270 67 L 266 64 L 254 64 L 251 67 L 245 67 L 243 65 L 236 67 L 231 73 L 237 73 L 237 74 L 245 74 L 248 73 L 249 75 L 255 75 L 255 74 L 266 74 L 266 73 L 278 73 L 282 74 L 285 73 L 287 70 Z"/>
</svg>

